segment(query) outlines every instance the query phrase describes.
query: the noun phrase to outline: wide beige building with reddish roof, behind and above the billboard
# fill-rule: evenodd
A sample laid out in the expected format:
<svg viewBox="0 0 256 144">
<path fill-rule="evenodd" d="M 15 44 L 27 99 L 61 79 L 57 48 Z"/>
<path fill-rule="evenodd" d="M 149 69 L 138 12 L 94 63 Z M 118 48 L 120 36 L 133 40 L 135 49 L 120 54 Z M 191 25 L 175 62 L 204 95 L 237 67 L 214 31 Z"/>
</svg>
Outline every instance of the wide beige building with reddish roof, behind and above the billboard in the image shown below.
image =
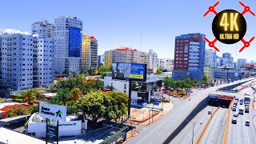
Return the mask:
<svg viewBox="0 0 256 144">
<path fill-rule="evenodd" d="M 136 49 L 130 49 L 126 46 L 119 46 L 118 49 L 115 49 L 113 52 L 112 62 L 139 63 L 140 52 Z"/>
</svg>

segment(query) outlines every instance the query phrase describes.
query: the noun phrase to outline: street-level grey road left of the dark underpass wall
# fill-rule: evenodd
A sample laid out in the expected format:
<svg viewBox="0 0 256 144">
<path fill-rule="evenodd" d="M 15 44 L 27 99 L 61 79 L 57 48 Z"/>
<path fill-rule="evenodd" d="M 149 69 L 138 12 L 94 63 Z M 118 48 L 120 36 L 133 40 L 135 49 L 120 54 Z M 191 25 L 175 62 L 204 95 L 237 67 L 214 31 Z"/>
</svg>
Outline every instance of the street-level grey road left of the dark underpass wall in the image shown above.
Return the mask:
<svg viewBox="0 0 256 144">
<path fill-rule="evenodd" d="M 246 79 L 248 80 L 248 79 Z M 244 81 L 244 80 L 243 80 Z M 242 81 L 238 81 L 242 82 Z M 221 86 L 228 86 L 230 84 L 223 84 Z M 168 136 L 172 133 L 173 130 L 183 121 L 184 118 L 188 114 L 190 114 L 191 110 L 194 109 L 195 106 L 198 105 L 202 99 L 206 98 L 210 93 L 213 93 L 220 86 L 212 86 L 205 90 L 198 90 L 196 94 L 191 96 L 191 100 L 185 99 L 180 100 L 178 98 L 171 98 L 174 102 L 174 108 L 168 114 L 164 115 L 157 122 L 149 126 L 143 126 L 138 130 L 138 136 L 130 139 L 127 143 L 138 144 L 138 143 L 162 143 L 168 138 Z"/>
</svg>

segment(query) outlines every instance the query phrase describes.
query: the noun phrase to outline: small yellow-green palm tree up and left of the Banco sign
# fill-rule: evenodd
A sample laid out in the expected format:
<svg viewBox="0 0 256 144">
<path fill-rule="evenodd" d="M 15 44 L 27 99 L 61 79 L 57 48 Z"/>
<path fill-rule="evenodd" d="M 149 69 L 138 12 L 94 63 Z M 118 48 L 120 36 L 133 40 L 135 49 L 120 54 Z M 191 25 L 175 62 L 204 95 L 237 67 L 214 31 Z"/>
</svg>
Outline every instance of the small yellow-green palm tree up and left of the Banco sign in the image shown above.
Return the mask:
<svg viewBox="0 0 256 144">
<path fill-rule="evenodd" d="M 37 89 L 27 89 L 22 91 L 22 97 L 26 99 L 26 102 L 30 105 L 34 104 L 34 99 L 37 98 L 38 90 Z"/>
</svg>

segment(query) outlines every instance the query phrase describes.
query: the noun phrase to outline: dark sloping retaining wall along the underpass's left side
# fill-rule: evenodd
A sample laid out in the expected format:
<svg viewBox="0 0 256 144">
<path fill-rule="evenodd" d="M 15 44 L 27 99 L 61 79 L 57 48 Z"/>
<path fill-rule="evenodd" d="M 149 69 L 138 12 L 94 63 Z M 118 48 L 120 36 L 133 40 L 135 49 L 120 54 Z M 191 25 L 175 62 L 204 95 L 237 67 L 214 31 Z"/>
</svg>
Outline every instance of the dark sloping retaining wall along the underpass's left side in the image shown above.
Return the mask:
<svg viewBox="0 0 256 144">
<path fill-rule="evenodd" d="M 206 108 L 206 106 L 208 106 L 208 97 L 199 102 L 198 105 L 194 107 L 194 110 L 183 119 L 183 121 L 171 132 L 170 136 L 162 143 L 170 143 L 201 110 Z"/>
</svg>

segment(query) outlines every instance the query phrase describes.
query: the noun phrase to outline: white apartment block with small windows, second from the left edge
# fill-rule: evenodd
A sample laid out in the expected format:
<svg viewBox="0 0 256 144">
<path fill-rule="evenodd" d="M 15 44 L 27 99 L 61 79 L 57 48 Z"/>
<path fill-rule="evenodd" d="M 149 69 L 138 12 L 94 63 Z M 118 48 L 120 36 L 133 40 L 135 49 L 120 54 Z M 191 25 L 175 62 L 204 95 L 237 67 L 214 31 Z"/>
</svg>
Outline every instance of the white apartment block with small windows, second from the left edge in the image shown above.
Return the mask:
<svg viewBox="0 0 256 144">
<path fill-rule="evenodd" d="M 52 86 L 54 84 L 54 38 L 33 39 L 33 84 Z"/>
</svg>

